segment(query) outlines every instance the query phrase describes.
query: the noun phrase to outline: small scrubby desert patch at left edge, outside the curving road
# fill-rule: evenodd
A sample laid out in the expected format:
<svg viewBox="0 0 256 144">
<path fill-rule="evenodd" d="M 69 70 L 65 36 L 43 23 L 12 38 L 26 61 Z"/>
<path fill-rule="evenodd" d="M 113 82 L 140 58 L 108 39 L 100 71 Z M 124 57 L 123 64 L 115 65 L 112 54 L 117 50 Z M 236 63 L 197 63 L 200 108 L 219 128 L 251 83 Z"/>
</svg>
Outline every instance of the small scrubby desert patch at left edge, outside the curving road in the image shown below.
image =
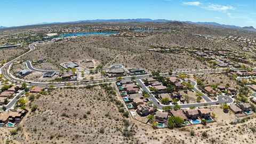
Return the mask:
<svg viewBox="0 0 256 144">
<path fill-rule="evenodd" d="M 25 49 L 21 49 L 21 48 L 0 49 L 0 61 L 12 60 L 24 52 L 25 52 Z"/>
</svg>

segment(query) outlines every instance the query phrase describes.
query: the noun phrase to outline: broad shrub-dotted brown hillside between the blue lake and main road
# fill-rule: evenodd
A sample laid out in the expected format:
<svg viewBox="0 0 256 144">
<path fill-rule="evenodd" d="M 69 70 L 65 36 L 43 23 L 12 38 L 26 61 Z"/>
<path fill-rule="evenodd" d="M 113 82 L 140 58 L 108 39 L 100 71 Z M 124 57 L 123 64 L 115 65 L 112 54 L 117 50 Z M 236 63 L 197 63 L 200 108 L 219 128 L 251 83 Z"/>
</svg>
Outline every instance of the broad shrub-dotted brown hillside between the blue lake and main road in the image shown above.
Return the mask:
<svg viewBox="0 0 256 144">
<path fill-rule="evenodd" d="M 70 60 L 94 59 L 99 61 L 101 66 L 107 64 L 106 67 L 122 64 L 131 68 L 140 67 L 148 71 L 163 72 L 205 68 L 203 63 L 187 54 L 148 53 L 150 44 L 141 44 L 141 41 L 148 41 L 148 39 L 82 36 L 71 38 L 69 41 L 38 45 L 37 49 L 29 54 L 30 57 L 23 57 L 23 59 L 33 61 L 43 57 L 50 60 L 52 65 Z M 52 69 L 50 65 L 42 65 L 42 68 Z"/>
</svg>

